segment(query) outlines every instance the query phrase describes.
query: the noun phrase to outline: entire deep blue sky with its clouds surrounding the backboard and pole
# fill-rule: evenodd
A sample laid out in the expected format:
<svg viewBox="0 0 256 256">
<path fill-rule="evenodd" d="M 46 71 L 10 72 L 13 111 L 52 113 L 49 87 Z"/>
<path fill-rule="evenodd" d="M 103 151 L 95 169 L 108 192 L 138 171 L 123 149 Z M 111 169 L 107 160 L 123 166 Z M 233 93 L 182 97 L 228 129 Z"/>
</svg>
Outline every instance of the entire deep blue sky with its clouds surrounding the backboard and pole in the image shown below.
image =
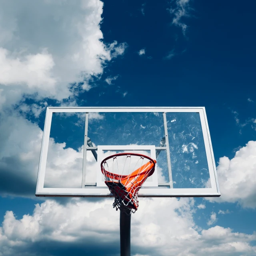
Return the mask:
<svg viewBox="0 0 256 256">
<path fill-rule="evenodd" d="M 141 199 L 132 255 L 256 255 L 256 2 L 0 6 L 1 256 L 119 252 L 112 200 L 35 198 L 46 106 L 205 106 L 222 196 Z"/>
</svg>

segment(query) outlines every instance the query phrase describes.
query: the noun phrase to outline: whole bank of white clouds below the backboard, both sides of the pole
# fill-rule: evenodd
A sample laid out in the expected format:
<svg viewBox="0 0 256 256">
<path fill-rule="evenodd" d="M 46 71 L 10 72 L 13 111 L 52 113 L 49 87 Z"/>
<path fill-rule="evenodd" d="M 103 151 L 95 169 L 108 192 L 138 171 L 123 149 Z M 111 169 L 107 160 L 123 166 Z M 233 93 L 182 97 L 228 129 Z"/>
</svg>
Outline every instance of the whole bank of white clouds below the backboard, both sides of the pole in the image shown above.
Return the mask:
<svg viewBox="0 0 256 256">
<path fill-rule="evenodd" d="M 73 198 L 65 205 L 53 200 L 36 204 L 33 214 L 16 218 L 8 211 L 0 227 L 0 254 L 62 255 L 76 252 L 119 254 L 119 212 L 112 198 L 90 202 Z M 132 215 L 132 255 L 252 256 L 256 234 L 214 226 L 199 232 L 193 221 L 194 201 L 189 198 L 140 198 Z M 47 245 L 47 246 L 46 246 Z M 47 250 L 46 250 L 47 248 Z"/>
</svg>

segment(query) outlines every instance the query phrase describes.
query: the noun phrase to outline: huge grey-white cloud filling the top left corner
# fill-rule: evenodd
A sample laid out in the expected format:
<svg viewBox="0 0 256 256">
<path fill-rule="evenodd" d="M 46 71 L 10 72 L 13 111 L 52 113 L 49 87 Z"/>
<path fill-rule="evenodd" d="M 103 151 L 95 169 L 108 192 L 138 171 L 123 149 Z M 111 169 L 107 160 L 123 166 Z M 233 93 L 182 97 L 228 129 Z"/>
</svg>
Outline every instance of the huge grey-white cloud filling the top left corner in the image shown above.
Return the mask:
<svg viewBox="0 0 256 256">
<path fill-rule="evenodd" d="M 70 83 L 100 76 L 126 43 L 104 44 L 100 0 L 8 1 L 0 4 L 0 108 L 24 94 L 62 100 Z M 33 21 L 33 22 L 32 22 Z M 7 25 L 8 24 L 8 25 Z"/>
</svg>

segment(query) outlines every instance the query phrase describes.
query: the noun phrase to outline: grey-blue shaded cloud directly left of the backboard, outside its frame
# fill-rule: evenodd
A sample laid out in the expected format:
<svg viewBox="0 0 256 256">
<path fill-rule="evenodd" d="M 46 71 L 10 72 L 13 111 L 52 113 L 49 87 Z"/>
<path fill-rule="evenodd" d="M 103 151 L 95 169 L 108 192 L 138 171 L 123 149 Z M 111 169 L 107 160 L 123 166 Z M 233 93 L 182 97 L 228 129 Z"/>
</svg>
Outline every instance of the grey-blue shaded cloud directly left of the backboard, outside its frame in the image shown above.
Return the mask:
<svg viewBox="0 0 256 256">
<path fill-rule="evenodd" d="M 42 142 L 42 130 L 18 114 L 0 115 L 0 194 L 32 196 Z"/>
</svg>

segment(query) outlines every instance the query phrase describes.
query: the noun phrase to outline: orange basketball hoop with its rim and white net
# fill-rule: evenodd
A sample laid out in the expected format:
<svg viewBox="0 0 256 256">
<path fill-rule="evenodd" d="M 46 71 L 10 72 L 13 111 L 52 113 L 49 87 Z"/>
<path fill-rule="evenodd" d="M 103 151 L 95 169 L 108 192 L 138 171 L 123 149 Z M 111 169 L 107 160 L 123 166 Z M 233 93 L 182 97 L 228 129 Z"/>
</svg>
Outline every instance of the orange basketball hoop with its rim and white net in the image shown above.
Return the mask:
<svg viewBox="0 0 256 256">
<path fill-rule="evenodd" d="M 100 167 L 105 184 L 115 197 L 113 208 L 135 212 L 139 206 L 138 191 L 154 173 L 155 166 L 156 160 L 137 153 L 120 153 L 105 158 Z"/>
</svg>

